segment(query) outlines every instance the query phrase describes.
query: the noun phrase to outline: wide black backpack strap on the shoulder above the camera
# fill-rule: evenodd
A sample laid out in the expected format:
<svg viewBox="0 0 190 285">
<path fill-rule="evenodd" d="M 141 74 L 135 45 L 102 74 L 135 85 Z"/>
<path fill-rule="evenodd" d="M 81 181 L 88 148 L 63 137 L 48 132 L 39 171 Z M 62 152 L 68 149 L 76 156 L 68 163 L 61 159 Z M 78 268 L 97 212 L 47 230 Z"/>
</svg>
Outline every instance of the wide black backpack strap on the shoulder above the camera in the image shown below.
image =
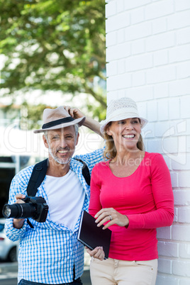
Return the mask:
<svg viewBox="0 0 190 285">
<path fill-rule="evenodd" d="M 36 192 L 38 191 L 38 187 L 42 183 L 47 172 L 47 165 L 48 159 L 38 162 L 33 167 L 33 172 L 30 176 L 28 187 L 26 189 L 28 196 L 35 196 Z"/>
</svg>

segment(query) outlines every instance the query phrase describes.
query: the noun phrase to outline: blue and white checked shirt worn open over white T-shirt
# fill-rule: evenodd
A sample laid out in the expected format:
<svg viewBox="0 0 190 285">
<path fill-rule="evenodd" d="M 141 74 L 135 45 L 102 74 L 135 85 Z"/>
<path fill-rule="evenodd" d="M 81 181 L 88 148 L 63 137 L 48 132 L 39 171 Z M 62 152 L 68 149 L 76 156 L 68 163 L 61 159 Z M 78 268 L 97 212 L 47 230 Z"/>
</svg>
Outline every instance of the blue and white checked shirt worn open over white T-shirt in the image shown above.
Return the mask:
<svg viewBox="0 0 190 285">
<path fill-rule="evenodd" d="M 94 165 L 103 160 L 103 150 L 100 149 L 75 157 L 86 162 L 91 173 Z M 82 210 L 88 211 L 90 187 L 82 175 L 82 167 L 82 162 L 72 158 L 70 169 L 77 173 L 86 194 Z M 13 178 L 9 192 L 9 203 L 15 203 L 16 194 L 26 194 L 32 171 L 33 166 L 26 167 Z M 48 204 L 45 179 L 39 186 L 36 196 L 42 196 Z M 77 240 L 80 217 L 81 215 L 73 231 L 64 224 L 52 222 L 49 213 L 45 223 L 38 223 L 30 218 L 30 223 L 33 224 L 34 228 L 30 228 L 25 220 L 23 228 L 16 229 L 13 228 L 13 218 L 6 219 L 7 237 L 13 241 L 21 240 L 18 252 L 18 282 L 21 279 L 26 279 L 44 284 L 69 283 L 73 281 L 73 269 L 75 269 L 75 279 L 82 276 L 84 246 Z"/>
</svg>

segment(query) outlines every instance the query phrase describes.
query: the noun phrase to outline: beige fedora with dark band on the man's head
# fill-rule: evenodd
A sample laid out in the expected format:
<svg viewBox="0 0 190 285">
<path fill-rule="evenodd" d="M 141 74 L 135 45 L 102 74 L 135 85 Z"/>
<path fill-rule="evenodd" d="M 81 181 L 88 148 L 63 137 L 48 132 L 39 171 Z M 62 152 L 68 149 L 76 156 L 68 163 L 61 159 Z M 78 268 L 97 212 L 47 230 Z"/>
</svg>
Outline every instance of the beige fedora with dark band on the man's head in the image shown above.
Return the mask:
<svg viewBox="0 0 190 285">
<path fill-rule="evenodd" d="M 84 124 L 86 117 L 74 119 L 67 113 L 64 107 L 55 109 L 46 108 L 43 111 L 43 126 L 40 130 L 34 130 L 34 133 L 42 133 L 45 130 L 56 130 L 57 128 L 66 128 L 69 125 L 78 124 L 79 127 Z"/>
</svg>

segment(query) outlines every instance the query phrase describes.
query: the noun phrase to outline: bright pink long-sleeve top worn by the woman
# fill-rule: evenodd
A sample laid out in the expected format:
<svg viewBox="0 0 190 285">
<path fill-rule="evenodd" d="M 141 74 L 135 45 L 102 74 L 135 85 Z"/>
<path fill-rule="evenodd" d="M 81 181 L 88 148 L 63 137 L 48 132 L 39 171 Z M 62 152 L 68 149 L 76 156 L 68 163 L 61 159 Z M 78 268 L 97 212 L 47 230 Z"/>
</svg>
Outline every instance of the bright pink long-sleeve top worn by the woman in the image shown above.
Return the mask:
<svg viewBox="0 0 190 285">
<path fill-rule="evenodd" d="M 108 162 L 96 164 L 91 174 L 89 213 L 95 216 L 101 208 L 114 208 L 129 219 L 128 228 L 109 227 L 109 257 L 158 258 L 156 228 L 172 225 L 174 218 L 171 177 L 162 155 L 145 152 L 138 169 L 122 178 L 113 175 Z"/>
</svg>

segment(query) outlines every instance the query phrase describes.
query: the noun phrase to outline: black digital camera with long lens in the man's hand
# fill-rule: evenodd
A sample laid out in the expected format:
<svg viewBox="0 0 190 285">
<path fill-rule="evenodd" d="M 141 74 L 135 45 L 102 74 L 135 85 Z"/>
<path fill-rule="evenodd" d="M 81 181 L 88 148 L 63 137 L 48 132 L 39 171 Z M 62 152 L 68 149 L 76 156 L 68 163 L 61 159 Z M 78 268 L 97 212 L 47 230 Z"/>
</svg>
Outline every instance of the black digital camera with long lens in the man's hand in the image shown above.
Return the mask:
<svg viewBox="0 0 190 285">
<path fill-rule="evenodd" d="M 22 199 L 25 203 L 6 204 L 2 213 L 5 218 L 33 218 L 39 223 L 44 223 L 47 218 L 48 206 L 43 197 L 26 196 Z"/>
</svg>

